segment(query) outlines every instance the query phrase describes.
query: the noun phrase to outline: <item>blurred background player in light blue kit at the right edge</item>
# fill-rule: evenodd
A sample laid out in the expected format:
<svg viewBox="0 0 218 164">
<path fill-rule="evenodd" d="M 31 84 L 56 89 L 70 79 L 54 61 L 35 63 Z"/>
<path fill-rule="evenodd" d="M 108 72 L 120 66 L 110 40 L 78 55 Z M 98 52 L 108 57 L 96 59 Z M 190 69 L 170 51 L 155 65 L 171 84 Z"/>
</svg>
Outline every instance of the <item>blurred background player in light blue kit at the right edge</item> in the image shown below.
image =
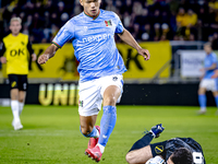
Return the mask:
<svg viewBox="0 0 218 164">
<path fill-rule="evenodd" d="M 201 109 L 198 114 L 206 113 L 206 91 L 211 91 L 215 97 L 216 105 L 218 107 L 218 79 L 213 78 L 215 75 L 215 70 L 217 69 L 217 55 L 213 52 L 210 43 L 204 45 L 204 50 L 206 52 L 204 61 L 204 75 L 199 83 L 198 90 L 198 102 Z"/>
</svg>

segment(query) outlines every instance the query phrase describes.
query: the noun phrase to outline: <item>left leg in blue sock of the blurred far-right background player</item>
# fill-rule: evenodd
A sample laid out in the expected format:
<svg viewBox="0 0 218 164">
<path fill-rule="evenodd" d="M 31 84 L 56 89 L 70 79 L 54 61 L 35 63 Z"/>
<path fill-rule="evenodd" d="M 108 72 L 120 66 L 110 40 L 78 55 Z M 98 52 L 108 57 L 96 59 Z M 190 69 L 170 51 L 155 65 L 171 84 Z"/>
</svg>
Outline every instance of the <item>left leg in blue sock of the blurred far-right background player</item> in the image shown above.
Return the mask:
<svg viewBox="0 0 218 164">
<path fill-rule="evenodd" d="M 198 102 L 199 102 L 199 106 L 201 109 L 198 110 L 199 115 L 203 115 L 206 113 L 206 89 L 205 87 L 199 87 L 198 90 Z"/>
</svg>

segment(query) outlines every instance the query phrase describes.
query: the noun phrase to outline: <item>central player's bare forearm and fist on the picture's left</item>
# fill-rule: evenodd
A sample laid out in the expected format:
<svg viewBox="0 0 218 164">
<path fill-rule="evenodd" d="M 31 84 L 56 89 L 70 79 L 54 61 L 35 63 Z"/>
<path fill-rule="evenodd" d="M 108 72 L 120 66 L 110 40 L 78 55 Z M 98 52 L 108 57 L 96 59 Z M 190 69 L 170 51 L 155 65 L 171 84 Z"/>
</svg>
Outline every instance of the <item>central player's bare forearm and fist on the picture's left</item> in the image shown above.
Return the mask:
<svg viewBox="0 0 218 164">
<path fill-rule="evenodd" d="M 56 51 L 58 50 L 58 46 L 56 46 L 55 44 L 51 44 L 43 55 L 40 55 L 38 57 L 38 63 L 43 65 L 46 63 L 48 61 L 49 58 L 53 57 Z"/>
</svg>

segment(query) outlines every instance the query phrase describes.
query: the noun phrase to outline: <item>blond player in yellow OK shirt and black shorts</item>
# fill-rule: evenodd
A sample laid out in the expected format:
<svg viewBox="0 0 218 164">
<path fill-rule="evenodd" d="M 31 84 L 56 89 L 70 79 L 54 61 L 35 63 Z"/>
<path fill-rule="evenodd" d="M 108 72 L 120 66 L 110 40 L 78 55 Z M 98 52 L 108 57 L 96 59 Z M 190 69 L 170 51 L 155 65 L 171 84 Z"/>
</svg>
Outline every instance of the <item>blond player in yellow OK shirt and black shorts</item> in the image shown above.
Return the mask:
<svg viewBox="0 0 218 164">
<path fill-rule="evenodd" d="M 0 60 L 2 63 L 7 63 L 7 74 L 11 86 L 12 126 L 14 130 L 23 128 L 20 115 L 23 110 L 28 86 L 28 52 L 32 57 L 32 61 L 36 60 L 36 55 L 28 40 L 28 36 L 20 33 L 22 28 L 21 23 L 22 20 L 20 17 L 11 19 L 11 34 L 3 38 L 2 49 L 0 50 Z"/>
</svg>

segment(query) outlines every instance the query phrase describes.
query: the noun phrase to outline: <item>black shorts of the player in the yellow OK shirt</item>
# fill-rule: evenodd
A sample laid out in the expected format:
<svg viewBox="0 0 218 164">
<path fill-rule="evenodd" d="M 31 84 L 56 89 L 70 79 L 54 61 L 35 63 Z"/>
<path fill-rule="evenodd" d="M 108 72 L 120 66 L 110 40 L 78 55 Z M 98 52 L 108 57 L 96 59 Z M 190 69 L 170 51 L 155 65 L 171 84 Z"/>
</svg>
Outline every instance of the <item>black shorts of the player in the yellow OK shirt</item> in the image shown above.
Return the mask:
<svg viewBox="0 0 218 164">
<path fill-rule="evenodd" d="M 28 87 L 28 81 L 26 74 L 9 74 L 10 87 L 19 89 L 19 91 L 26 91 Z"/>
</svg>

